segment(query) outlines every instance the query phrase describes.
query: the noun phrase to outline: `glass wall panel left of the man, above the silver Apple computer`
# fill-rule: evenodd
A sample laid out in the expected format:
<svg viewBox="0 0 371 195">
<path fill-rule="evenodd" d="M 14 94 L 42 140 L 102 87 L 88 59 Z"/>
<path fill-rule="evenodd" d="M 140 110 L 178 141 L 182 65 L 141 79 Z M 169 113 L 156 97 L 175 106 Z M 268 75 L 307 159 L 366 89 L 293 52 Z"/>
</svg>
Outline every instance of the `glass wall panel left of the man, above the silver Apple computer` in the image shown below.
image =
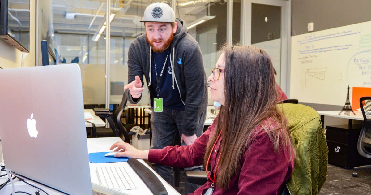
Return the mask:
<svg viewBox="0 0 371 195">
<path fill-rule="evenodd" d="M 84 104 L 104 106 L 106 45 L 105 32 L 99 34 L 99 31 L 105 20 L 106 1 L 51 2 L 52 33 L 48 34 L 51 34 L 49 44 L 55 52 L 57 64 L 79 64 Z"/>
</svg>

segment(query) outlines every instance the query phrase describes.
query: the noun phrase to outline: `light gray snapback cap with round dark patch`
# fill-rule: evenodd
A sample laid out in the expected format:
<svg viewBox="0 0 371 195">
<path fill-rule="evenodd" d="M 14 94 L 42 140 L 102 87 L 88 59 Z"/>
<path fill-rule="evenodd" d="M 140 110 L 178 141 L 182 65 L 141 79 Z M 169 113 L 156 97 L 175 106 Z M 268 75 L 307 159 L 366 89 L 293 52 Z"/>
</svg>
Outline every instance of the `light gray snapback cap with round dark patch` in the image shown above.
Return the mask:
<svg viewBox="0 0 371 195">
<path fill-rule="evenodd" d="M 144 11 L 144 19 L 140 22 L 175 22 L 175 12 L 166 3 L 152 3 Z"/>
</svg>

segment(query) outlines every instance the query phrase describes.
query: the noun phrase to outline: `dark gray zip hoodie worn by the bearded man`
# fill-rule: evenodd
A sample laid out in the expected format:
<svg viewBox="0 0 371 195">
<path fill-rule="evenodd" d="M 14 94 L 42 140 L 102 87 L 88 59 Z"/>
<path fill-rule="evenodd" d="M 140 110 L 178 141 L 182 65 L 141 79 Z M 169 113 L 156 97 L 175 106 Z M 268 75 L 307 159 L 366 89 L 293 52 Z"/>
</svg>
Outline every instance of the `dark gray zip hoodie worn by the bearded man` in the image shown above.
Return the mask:
<svg viewBox="0 0 371 195">
<path fill-rule="evenodd" d="M 196 133 L 198 117 L 207 107 L 207 77 L 202 62 L 202 54 L 197 41 L 189 35 L 185 22 L 176 18 L 177 32 L 170 44 L 170 63 L 173 67 L 173 88 L 177 88 L 184 103 L 183 134 L 192 136 Z M 128 83 L 139 76 L 143 83 L 143 75 L 150 85 L 151 47 L 146 35 L 134 39 L 128 52 Z M 175 84 L 174 84 L 175 83 Z M 148 86 L 147 86 L 148 87 Z M 149 87 L 148 87 L 149 88 Z M 148 89 L 149 90 L 149 89 Z M 129 89 L 125 90 L 126 98 L 138 103 L 141 97 L 133 99 Z M 154 97 L 151 97 L 151 99 Z"/>
</svg>

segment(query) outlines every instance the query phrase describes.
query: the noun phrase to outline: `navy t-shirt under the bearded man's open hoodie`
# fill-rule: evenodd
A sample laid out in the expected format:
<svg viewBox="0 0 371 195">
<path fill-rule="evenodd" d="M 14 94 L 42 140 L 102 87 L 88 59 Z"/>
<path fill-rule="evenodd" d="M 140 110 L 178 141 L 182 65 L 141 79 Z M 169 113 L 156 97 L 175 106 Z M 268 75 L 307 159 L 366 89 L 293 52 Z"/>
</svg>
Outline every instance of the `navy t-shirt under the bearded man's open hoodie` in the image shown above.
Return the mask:
<svg viewBox="0 0 371 195">
<path fill-rule="evenodd" d="M 156 88 L 156 72 L 157 77 L 160 79 L 162 67 L 164 66 L 166 56 L 168 56 L 162 78 L 160 80 L 160 92 L 159 97 L 162 98 L 163 106 L 171 110 L 184 110 L 184 104 L 180 98 L 179 90 L 174 78 L 174 89 L 173 89 L 173 69 L 170 64 L 170 47 L 164 52 L 152 52 L 152 75 L 150 85 L 151 105 L 153 105 L 153 98 L 157 97 Z"/>
</svg>

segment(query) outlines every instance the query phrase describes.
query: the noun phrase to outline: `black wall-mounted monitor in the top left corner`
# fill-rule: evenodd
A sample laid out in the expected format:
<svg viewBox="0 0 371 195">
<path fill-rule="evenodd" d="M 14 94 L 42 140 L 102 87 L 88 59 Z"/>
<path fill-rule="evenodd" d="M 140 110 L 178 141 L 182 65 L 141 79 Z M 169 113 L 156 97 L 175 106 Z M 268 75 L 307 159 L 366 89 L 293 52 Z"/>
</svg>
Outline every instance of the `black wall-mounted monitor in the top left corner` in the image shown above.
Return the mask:
<svg viewBox="0 0 371 195">
<path fill-rule="evenodd" d="M 0 37 L 22 52 L 30 47 L 30 0 L 0 0 Z"/>
</svg>

